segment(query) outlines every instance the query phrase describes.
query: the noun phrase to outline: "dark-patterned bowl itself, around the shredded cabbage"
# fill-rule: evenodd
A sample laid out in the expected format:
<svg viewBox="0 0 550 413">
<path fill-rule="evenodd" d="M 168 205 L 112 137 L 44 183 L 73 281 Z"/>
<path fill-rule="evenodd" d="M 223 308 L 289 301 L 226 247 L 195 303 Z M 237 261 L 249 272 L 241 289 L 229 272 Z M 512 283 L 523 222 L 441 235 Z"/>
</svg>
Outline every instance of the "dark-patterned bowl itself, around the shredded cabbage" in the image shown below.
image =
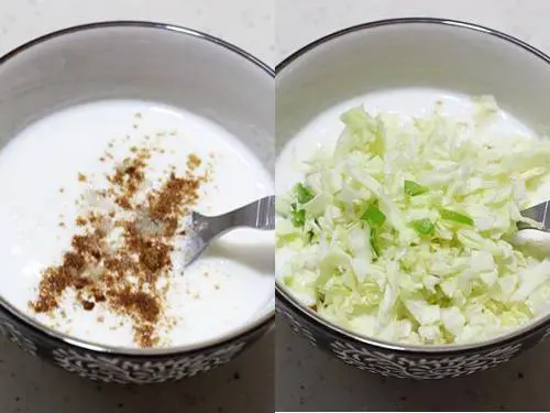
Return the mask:
<svg viewBox="0 0 550 413">
<path fill-rule="evenodd" d="M 517 39 L 460 21 L 397 19 L 342 30 L 305 46 L 276 67 L 277 155 L 298 132 L 317 122 L 320 113 L 332 110 L 333 116 L 334 108 L 350 107 L 352 101 L 358 105 L 361 96 L 411 87 L 461 96 L 493 95 L 507 113 L 529 129 L 547 133 L 549 63 L 548 56 Z M 332 128 L 315 124 L 319 133 Z M 276 176 L 278 180 L 278 169 Z M 409 379 L 444 379 L 485 370 L 550 335 L 550 315 L 546 315 L 483 343 L 388 343 L 327 322 L 300 305 L 278 281 L 276 312 L 294 333 L 345 363 Z"/>
</svg>

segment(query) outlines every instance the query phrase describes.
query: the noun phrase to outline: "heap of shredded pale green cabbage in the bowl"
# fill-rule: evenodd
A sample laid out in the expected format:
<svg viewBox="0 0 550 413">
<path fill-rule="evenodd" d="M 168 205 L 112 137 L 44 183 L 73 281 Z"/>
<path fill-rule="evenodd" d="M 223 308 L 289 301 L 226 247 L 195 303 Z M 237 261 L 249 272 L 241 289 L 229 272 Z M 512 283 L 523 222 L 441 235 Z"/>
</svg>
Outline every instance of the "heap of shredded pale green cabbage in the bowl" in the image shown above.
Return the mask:
<svg viewBox="0 0 550 413">
<path fill-rule="evenodd" d="M 353 108 L 331 153 L 277 197 L 282 282 L 305 305 L 386 340 L 462 344 L 515 329 L 550 301 L 550 260 L 510 243 L 550 142 L 484 133 L 435 111 Z"/>
</svg>

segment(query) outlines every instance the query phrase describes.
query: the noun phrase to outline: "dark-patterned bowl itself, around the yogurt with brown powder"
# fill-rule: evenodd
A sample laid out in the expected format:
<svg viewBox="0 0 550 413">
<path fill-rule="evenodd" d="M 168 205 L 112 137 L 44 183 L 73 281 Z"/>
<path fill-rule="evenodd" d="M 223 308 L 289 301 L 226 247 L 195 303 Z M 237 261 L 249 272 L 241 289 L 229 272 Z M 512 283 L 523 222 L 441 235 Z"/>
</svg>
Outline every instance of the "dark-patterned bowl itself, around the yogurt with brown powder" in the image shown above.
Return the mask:
<svg viewBox="0 0 550 413">
<path fill-rule="evenodd" d="M 66 29 L 0 58 L 1 144 L 33 121 L 74 105 L 150 100 L 239 137 L 271 172 L 273 77 L 246 52 L 185 28 L 119 21 Z M 224 365 L 267 333 L 274 317 L 272 297 L 241 327 L 198 344 L 110 347 L 47 328 L 0 296 L 0 332 L 9 340 L 81 377 L 117 383 L 178 380 Z"/>
</svg>

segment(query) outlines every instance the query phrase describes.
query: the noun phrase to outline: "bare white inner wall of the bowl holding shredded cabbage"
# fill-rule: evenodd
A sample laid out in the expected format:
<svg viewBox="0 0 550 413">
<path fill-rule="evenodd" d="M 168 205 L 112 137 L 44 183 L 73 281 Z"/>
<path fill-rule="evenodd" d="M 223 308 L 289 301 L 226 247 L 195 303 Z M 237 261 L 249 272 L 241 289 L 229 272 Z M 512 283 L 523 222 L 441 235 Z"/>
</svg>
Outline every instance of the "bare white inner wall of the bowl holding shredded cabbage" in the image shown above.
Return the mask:
<svg viewBox="0 0 550 413">
<path fill-rule="evenodd" d="M 277 151 L 318 113 L 367 93 L 430 87 L 493 95 L 538 132 L 548 132 L 550 70 L 542 58 L 462 25 L 409 22 L 351 31 L 277 73 Z"/>
</svg>

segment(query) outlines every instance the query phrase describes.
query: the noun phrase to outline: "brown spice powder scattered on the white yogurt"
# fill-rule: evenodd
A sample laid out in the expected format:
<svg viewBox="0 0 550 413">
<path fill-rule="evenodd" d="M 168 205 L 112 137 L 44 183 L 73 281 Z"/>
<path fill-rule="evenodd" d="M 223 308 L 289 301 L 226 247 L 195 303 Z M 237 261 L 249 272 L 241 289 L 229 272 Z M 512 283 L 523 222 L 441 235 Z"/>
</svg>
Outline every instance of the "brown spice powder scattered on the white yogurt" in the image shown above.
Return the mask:
<svg viewBox="0 0 550 413">
<path fill-rule="evenodd" d="M 183 232 L 180 218 L 198 200 L 200 184 L 207 178 L 196 176 L 201 160 L 191 154 L 185 176 L 170 172 L 160 188 L 147 188 L 145 170 L 152 150 L 133 146 L 131 153 L 107 176 L 108 188 L 91 194 L 112 207 L 89 208 L 76 218 L 80 232 L 73 236 L 62 263 L 43 271 L 37 297 L 30 306 L 51 313 L 59 307 L 64 293 L 73 290 L 84 311 L 101 304 L 130 317 L 135 343 L 154 347 L 167 291 L 160 280 L 170 273 L 174 241 Z M 88 181 L 82 174 L 78 180 Z"/>
</svg>

